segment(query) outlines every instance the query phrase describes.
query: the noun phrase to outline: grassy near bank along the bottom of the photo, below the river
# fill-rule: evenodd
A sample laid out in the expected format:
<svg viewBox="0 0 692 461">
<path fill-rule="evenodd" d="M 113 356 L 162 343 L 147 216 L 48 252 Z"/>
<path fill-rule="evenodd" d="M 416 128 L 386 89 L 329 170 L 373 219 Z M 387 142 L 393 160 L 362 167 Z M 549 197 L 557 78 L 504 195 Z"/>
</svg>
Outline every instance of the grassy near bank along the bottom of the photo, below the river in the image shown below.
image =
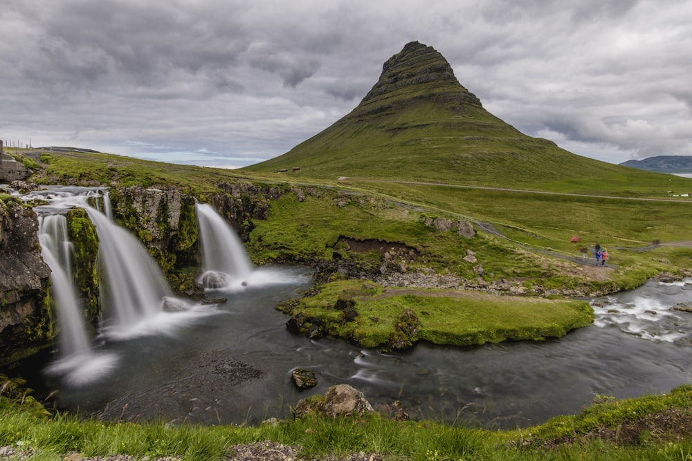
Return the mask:
<svg viewBox="0 0 692 461">
<path fill-rule="evenodd" d="M 436 422 L 364 417 L 303 417 L 260 426 L 168 426 L 80 420 L 48 415 L 30 397 L 0 396 L 0 449 L 33 460 L 129 455 L 132 459 L 233 459 L 234 446 L 270 440 L 303 459 L 347 459 L 350 453 L 384 460 L 691 460 L 692 386 L 664 395 L 599 402 L 579 415 L 541 426 L 492 431 Z M 73 455 L 70 459 L 75 458 Z M 280 458 L 276 458 L 280 459 Z"/>
</svg>

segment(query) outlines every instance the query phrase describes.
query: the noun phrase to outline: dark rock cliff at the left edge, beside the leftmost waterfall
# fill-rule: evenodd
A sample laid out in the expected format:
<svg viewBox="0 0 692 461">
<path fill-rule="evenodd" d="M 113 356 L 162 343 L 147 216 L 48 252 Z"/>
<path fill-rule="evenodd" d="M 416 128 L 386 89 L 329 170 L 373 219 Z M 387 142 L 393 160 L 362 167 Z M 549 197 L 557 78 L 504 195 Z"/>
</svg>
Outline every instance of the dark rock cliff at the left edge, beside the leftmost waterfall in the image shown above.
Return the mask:
<svg viewBox="0 0 692 461">
<path fill-rule="evenodd" d="M 19 200 L 0 196 L 0 364 L 30 355 L 53 339 L 37 218 Z"/>
</svg>

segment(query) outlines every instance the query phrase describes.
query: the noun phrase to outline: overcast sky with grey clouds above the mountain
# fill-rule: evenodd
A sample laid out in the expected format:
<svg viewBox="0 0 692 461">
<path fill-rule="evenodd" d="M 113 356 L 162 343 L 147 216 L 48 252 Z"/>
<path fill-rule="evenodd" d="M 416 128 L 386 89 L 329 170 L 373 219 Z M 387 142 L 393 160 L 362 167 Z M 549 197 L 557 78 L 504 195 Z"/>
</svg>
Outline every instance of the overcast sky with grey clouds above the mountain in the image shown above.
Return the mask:
<svg viewBox="0 0 692 461">
<path fill-rule="evenodd" d="M 2 0 L 0 139 L 242 167 L 349 113 L 409 41 L 582 156 L 692 155 L 689 0 Z"/>
</svg>

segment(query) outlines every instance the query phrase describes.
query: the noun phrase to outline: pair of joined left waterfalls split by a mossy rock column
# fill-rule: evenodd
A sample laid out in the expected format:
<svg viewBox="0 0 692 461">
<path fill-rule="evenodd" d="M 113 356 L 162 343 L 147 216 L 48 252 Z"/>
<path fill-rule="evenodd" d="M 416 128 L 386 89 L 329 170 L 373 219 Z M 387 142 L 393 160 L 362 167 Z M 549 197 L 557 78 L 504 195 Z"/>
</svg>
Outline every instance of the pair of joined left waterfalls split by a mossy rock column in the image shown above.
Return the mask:
<svg viewBox="0 0 692 461">
<path fill-rule="evenodd" d="M 68 384 L 81 386 L 104 378 L 118 364 L 113 352 L 93 348 L 75 294 L 73 250 L 64 216 L 68 209 L 85 209 L 98 234 L 100 305 L 104 317 L 99 332 L 103 337 L 129 339 L 171 334 L 201 317 L 219 312 L 213 305 L 189 303 L 172 296 L 163 272 L 144 245 L 113 221 L 107 191 L 55 187 L 22 198 L 47 202 L 34 209 L 39 215 L 39 242 L 44 261 L 51 267 L 51 291 L 60 328 L 58 359 L 48 367 L 48 373 L 62 376 Z"/>
</svg>

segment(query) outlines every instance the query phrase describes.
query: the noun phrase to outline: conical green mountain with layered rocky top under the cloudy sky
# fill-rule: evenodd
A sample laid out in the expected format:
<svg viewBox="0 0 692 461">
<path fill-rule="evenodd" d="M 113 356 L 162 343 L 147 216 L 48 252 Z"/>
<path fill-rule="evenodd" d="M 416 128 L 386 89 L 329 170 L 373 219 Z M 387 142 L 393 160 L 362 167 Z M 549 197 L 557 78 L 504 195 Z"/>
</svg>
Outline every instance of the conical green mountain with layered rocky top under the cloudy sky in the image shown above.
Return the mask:
<svg viewBox="0 0 692 461">
<path fill-rule="evenodd" d="M 434 48 L 413 41 L 385 62 L 351 113 L 288 153 L 246 167 L 303 176 L 529 185 L 622 173 L 531 138 L 483 109 Z"/>
</svg>

